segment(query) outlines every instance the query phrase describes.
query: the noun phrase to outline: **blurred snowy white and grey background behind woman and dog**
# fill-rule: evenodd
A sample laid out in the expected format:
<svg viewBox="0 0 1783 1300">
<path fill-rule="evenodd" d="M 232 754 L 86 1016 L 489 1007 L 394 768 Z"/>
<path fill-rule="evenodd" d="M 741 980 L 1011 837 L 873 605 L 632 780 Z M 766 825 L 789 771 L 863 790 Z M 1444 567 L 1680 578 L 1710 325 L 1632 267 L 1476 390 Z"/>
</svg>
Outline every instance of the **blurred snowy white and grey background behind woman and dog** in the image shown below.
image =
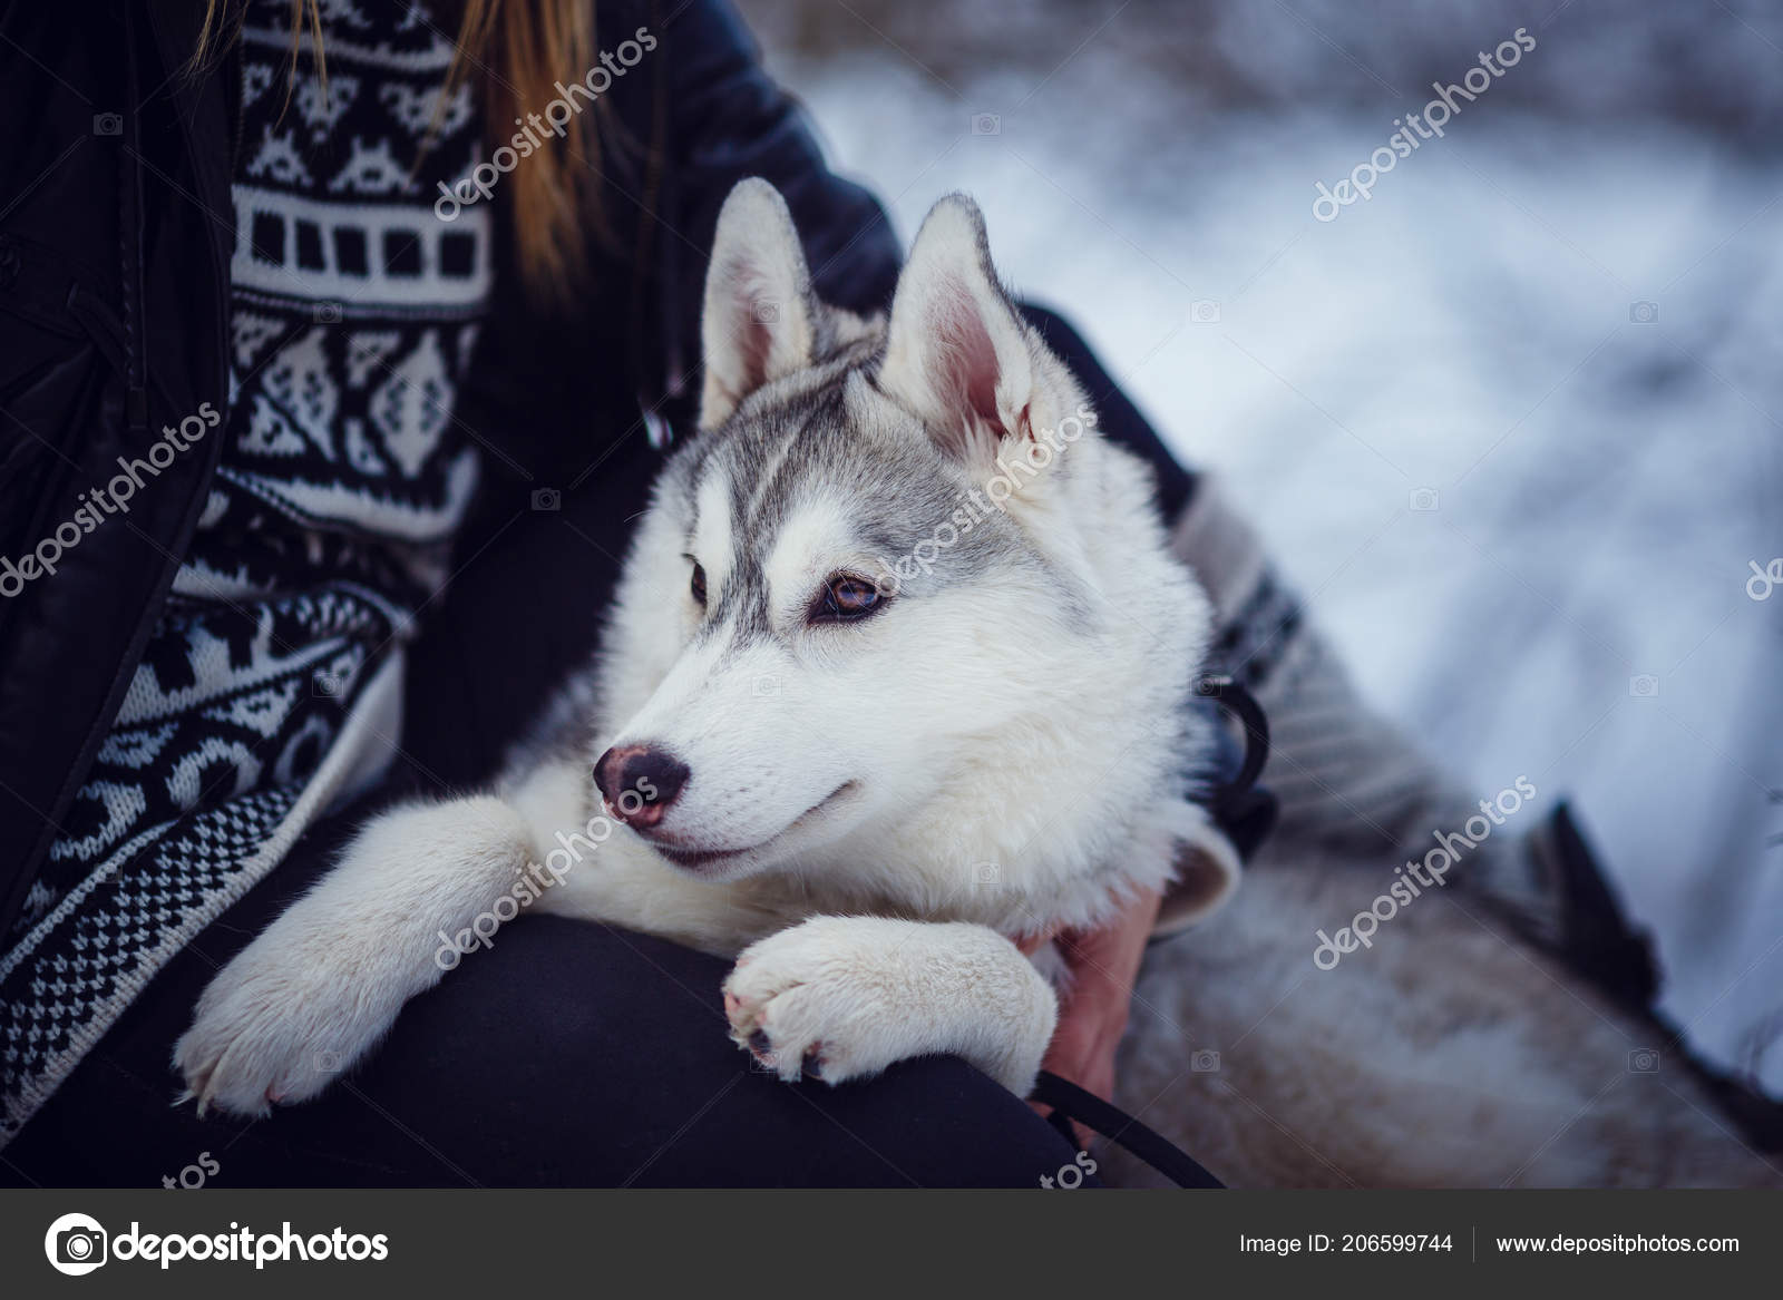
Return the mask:
<svg viewBox="0 0 1783 1300">
<path fill-rule="evenodd" d="M 1574 802 L 1664 1009 L 1783 1097 L 1783 7 L 738 4 L 906 241 L 977 198 L 1376 708 Z"/>
</svg>

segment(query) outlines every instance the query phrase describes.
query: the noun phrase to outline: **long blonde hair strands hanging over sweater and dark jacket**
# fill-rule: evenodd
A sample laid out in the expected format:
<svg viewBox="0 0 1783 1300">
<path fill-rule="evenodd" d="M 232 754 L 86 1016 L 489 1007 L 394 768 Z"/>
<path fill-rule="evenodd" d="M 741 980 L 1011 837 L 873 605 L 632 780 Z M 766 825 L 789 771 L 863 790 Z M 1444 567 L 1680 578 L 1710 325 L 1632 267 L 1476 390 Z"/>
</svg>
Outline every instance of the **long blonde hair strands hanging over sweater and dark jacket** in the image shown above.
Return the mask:
<svg viewBox="0 0 1783 1300">
<path fill-rule="evenodd" d="M 223 36 L 228 0 L 209 0 L 198 30 L 198 48 L 187 64 L 196 75 L 239 36 Z M 291 82 L 296 80 L 303 32 L 308 29 L 316 50 L 316 73 L 328 84 L 323 55 L 323 20 L 319 0 L 291 0 Z M 506 139 L 510 123 L 526 114 L 528 105 L 556 98 L 563 70 L 592 68 L 594 0 L 464 0 L 456 52 L 446 73 L 435 127 L 451 93 L 472 73 L 481 77 L 483 116 L 490 139 Z M 291 89 L 285 98 L 289 103 Z M 596 175 L 601 157 L 597 112 L 576 114 L 569 137 L 560 148 L 538 150 L 524 168 L 515 168 L 514 187 L 515 262 L 526 287 L 538 298 L 562 301 L 588 271 L 588 232 L 604 235 Z M 431 130 L 423 143 L 431 144 Z M 419 159 L 415 159 L 419 162 Z"/>
</svg>

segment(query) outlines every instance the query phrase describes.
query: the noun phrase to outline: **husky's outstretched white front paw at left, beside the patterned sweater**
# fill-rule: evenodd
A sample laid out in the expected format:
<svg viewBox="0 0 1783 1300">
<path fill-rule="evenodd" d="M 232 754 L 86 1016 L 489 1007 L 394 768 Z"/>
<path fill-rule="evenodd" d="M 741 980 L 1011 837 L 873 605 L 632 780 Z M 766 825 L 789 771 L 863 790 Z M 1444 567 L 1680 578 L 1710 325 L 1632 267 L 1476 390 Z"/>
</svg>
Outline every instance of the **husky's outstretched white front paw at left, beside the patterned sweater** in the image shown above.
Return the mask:
<svg viewBox="0 0 1783 1300">
<path fill-rule="evenodd" d="M 173 1049 L 198 1113 L 266 1115 L 321 1093 L 389 1029 L 371 972 L 269 931 L 205 988 Z"/>
</svg>

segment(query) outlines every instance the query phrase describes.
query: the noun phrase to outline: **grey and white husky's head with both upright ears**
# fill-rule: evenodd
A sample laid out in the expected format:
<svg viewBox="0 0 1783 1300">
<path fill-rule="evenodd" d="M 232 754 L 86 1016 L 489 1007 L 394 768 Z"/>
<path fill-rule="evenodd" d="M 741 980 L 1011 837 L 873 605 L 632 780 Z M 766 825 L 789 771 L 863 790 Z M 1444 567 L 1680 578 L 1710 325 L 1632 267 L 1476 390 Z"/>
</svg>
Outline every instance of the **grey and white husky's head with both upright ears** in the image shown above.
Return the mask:
<svg viewBox="0 0 1783 1300">
<path fill-rule="evenodd" d="M 1157 526 L 1107 537 L 1130 464 L 1097 458 L 1095 414 L 998 285 L 977 207 L 941 200 L 890 317 L 863 321 L 815 298 L 785 202 L 744 182 L 703 344 L 701 432 L 610 628 L 608 808 L 669 861 L 738 877 L 843 842 L 872 858 L 925 819 L 982 852 L 963 819 L 1016 826 L 1009 804 L 1105 778 L 1105 715 L 1148 708 L 1120 681 L 1132 622 L 1182 660 L 1166 694 L 1195 667 L 1187 583 L 1139 562 L 1111 594 L 1105 553 L 1150 555 Z M 1150 512 L 1143 478 L 1122 508 Z"/>
</svg>

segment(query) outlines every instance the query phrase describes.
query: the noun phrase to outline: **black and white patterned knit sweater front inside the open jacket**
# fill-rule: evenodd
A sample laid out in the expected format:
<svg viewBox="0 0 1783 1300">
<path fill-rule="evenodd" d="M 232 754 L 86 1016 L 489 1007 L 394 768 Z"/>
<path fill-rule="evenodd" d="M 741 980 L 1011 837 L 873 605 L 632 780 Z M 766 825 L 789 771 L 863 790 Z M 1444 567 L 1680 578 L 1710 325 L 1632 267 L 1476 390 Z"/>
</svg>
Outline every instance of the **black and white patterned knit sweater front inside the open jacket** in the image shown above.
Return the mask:
<svg viewBox="0 0 1783 1300">
<path fill-rule="evenodd" d="M 276 858 L 366 681 L 446 578 L 478 480 L 453 421 L 490 291 L 476 105 L 424 5 L 289 0 L 241 30 L 226 439 L 191 551 L 50 861 L 0 940 L 0 1143 Z M 430 134 L 431 132 L 431 134 Z M 419 166 L 417 166 L 419 159 Z M 218 403 L 223 407 L 225 403 Z M 169 1081 L 171 1082 L 171 1081 Z"/>
</svg>

